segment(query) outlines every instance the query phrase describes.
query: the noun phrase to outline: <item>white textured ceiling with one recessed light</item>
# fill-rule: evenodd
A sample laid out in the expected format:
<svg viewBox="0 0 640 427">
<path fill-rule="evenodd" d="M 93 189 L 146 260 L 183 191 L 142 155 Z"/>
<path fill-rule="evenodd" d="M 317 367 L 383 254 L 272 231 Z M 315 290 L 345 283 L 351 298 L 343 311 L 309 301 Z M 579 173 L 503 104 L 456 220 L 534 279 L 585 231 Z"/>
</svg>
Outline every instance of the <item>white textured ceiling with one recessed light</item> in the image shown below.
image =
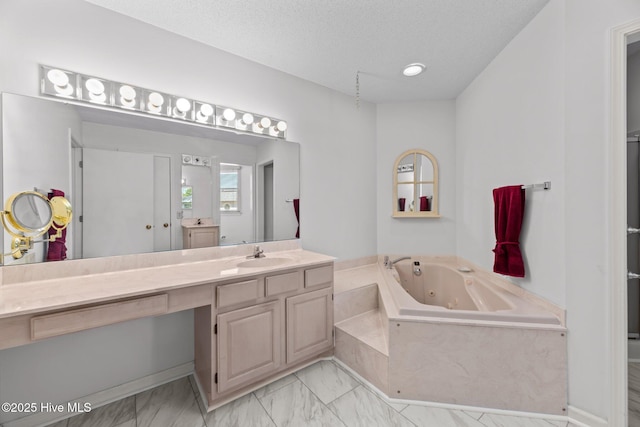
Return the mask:
<svg viewBox="0 0 640 427">
<path fill-rule="evenodd" d="M 87 1 L 379 103 L 456 97 L 549 0 Z"/>
</svg>

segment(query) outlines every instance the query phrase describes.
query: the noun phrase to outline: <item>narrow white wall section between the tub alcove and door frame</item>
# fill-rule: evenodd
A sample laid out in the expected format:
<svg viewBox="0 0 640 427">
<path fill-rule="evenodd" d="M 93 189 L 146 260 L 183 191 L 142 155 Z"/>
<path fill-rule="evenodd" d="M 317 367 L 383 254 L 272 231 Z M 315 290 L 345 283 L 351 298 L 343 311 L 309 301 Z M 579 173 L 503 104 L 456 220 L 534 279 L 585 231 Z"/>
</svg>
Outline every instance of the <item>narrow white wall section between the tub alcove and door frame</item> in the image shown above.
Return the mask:
<svg viewBox="0 0 640 427">
<path fill-rule="evenodd" d="M 610 351 L 607 310 L 607 162 L 611 28 L 637 19 L 633 0 L 566 0 L 565 183 L 569 390 L 572 405 L 606 416 Z M 622 143 L 619 141 L 618 143 Z M 597 197 L 599 203 L 594 204 Z"/>
</svg>

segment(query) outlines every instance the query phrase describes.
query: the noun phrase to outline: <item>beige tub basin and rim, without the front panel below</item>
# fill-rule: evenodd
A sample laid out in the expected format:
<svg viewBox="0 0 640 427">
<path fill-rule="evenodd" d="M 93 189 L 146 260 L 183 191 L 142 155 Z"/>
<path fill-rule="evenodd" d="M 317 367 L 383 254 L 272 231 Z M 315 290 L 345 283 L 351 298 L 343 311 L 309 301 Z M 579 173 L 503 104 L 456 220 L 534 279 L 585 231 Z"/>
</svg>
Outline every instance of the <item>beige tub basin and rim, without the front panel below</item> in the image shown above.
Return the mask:
<svg viewBox="0 0 640 427">
<path fill-rule="evenodd" d="M 383 268 L 383 275 L 399 316 L 564 323 L 562 310 L 458 258 L 412 257 Z"/>
</svg>

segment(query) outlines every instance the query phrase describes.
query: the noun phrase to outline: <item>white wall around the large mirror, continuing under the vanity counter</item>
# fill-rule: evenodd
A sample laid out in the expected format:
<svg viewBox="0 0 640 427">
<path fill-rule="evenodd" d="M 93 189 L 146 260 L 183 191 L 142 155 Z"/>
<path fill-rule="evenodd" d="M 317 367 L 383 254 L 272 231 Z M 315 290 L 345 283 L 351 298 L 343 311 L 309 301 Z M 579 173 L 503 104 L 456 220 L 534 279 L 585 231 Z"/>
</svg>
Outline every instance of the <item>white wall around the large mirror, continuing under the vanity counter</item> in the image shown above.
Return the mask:
<svg viewBox="0 0 640 427">
<path fill-rule="evenodd" d="M 340 259 L 376 253 L 375 215 L 362 215 L 376 209 L 372 104 L 361 102 L 356 109 L 351 96 L 81 0 L 3 0 L 0 91 L 36 96 L 39 63 L 286 119 L 288 139 L 302 144 L 304 247 Z M 27 345 L 11 350 L 9 358 L 4 350 L 0 352 L 3 400 L 24 400 L 19 390 L 29 383 L 26 378 L 38 383 L 38 400 L 66 401 L 190 361 L 191 353 L 180 353 L 193 346 L 189 315 L 184 312 L 171 318 L 169 329 L 180 331 L 170 335 L 175 357 L 146 360 L 144 369 L 136 364 L 127 369 L 126 379 L 113 372 L 122 369 L 124 360 L 150 354 L 148 336 L 139 327 L 146 324 L 157 329 L 160 320 L 88 332 L 105 350 L 97 354 L 87 340 L 69 345 L 69 340 L 57 338 L 47 342 L 46 353 Z M 44 365 L 52 354 L 68 362 L 65 369 L 52 372 L 46 384 L 40 385 L 30 373 L 9 375 L 20 369 L 21 361 Z M 93 363 L 75 366 L 73 361 L 82 354 L 91 354 Z M 112 354 L 121 357 L 115 359 Z"/>
</svg>

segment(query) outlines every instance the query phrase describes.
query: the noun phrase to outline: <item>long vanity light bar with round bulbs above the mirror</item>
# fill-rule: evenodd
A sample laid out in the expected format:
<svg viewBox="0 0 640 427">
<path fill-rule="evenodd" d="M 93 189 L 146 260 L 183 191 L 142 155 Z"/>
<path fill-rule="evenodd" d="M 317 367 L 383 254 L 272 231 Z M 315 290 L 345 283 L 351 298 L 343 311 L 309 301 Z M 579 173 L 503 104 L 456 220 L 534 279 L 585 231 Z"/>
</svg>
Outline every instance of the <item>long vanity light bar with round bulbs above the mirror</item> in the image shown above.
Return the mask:
<svg viewBox="0 0 640 427">
<path fill-rule="evenodd" d="M 284 120 L 47 65 L 40 65 L 40 94 L 287 139 Z"/>
</svg>

